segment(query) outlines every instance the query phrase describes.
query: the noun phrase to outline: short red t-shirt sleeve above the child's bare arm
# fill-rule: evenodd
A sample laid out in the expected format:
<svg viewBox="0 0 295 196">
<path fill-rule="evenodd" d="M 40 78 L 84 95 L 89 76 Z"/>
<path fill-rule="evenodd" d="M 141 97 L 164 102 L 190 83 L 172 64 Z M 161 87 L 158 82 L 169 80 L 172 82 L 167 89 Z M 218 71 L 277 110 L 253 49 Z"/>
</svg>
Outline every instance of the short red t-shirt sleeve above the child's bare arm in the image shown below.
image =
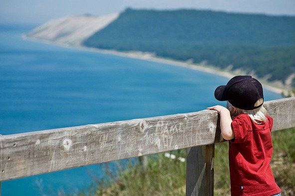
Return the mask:
<svg viewBox="0 0 295 196">
<path fill-rule="evenodd" d="M 243 115 L 244 114 L 236 116 L 232 122 L 233 130 L 235 132 L 235 139 L 232 140 L 234 143 L 245 141 L 248 135 L 249 123 L 247 123 L 247 118 L 245 119 Z"/>
</svg>

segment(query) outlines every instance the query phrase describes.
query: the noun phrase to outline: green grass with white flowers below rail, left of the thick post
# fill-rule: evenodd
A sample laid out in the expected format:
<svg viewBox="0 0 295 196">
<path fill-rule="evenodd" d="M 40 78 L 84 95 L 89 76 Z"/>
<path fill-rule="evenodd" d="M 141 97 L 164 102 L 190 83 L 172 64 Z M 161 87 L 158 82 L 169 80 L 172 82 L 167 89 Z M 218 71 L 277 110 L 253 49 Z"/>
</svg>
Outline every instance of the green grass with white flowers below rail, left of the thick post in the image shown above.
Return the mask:
<svg viewBox="0 0 295 196">
<path fill-rule="evenodd" d="M 181 196 L 185 195 L 186 163 L 178 157 L 186 155 L 185 150 L 174 151 L 176 159 L 169 159 L 164 153 L 148 156 L 148 166 L 133 163 L 121 168 L 112 184 L 99 184 L 97 196 Z M 105 186 L 107 185 L 107 186 Z"/>
</svg>

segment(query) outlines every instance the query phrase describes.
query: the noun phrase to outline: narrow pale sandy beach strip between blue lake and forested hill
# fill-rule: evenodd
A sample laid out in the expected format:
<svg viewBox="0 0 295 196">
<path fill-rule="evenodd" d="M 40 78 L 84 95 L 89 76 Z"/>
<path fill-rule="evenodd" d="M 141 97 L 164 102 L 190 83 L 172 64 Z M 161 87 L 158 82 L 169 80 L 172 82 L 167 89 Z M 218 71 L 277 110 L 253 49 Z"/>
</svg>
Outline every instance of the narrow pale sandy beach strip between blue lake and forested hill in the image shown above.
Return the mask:
<svg viewBox="0 0 295 196">
<path fill-rule="evenodd" d="M 219 76 L 226 77 L 229 79 L 231 79 L 232 77 L 234 77 L 236 75 L 243 75 L 243 73 L 234 73 L 234 72 L 219 70 L 218 68 L 206 65 L 205 63 L 193 64 L 190 62 L 177 61 L 174 59 L 165 59 L 165 58 L 157 57 L 154 54 L 148 53 L 148 52 L 140 52 L 140 51 L 119 52 L 119 51 L 115 51 L 115 50 L 104 50 L 104 49 L 98 49 L 98 48 L 90 48 L 90 47 L 81 46 L 81 45 L 65 44 L 65 43 L 56 42 L 56 41 L 48 41 L 48 40 L 44 40 L 44 39 L 27 37 L 25 35 L 23 35 L 22 37 L 23 37 L 23 39 L 27 39 L 30 41 L 42 42 L 45 44 L 57 45 L 57 46 L 65 47 L 65 48 L 87 50 L 87 51 L 91 51 L 91 52 L 98 52 L 98 53 L 103 53 L 103 54 L 111 54 L 111 55 L 116 55 L 116 56 L 121 56 L 121 57 L 164 63 L 164 64 L 172 65 L 172 66 L 180 66 L 180 67 L 184 67 L 184 68 L 188 68 L 188 69 L 206 72 L 209 74 L 219 75 Z M 275 87 L 274 85 L 270 84 L 267 81 L 264 81 L 262 79 L 259 79 L 259 80 L 263 84 L 264 88 L 266 88 L 272 92 L 282 94 L 282 93 L 286 93 L 288 91 L 286 88 Z"/>
</svg>

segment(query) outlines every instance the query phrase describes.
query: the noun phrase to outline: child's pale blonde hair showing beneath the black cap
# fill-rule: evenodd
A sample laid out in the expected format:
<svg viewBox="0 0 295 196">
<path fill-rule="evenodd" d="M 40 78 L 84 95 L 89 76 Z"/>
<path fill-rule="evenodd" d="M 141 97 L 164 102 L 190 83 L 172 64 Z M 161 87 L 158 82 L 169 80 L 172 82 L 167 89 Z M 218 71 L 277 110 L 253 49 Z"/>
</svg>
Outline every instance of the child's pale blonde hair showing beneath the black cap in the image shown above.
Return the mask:
<svg viewBox="0 0 295 196">
<path fill-rule="evenodd" d="M 256 105 L 260 105 L 263 103 L 263 98 L 259 99 L 256 103 Z M 245 110 L 245 109 L 240 109 L 238 107 L 233 106 L 229 101 L 227 101 L 227 108 L 230 110 L 231 116 L 235 117 L 239 114 L 248 114 L 250 118 L 256 123 L 256 124 L 261 124 L 262 122 L 267 122 L 267 110 L 266 108 L 262 105 L 256 109 L 253 110 Z"/>
</svg>

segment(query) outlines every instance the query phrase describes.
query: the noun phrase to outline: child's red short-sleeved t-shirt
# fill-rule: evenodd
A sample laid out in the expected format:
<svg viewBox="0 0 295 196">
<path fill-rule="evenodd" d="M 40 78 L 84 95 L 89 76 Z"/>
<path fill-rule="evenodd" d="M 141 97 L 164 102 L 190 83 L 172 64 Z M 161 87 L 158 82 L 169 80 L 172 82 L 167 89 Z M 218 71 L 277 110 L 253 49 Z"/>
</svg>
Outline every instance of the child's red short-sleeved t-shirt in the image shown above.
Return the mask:
<svg viewBox="0 0 295 196">
<path fill-rule="evenodd" d="M 272 196 L 281 192 L 270 162 L 273 154 L 273 118 L 256 124 L 248 114 L 234 118 L 235 139 L 229 142 L 232 196 Z"/>
</svg>

